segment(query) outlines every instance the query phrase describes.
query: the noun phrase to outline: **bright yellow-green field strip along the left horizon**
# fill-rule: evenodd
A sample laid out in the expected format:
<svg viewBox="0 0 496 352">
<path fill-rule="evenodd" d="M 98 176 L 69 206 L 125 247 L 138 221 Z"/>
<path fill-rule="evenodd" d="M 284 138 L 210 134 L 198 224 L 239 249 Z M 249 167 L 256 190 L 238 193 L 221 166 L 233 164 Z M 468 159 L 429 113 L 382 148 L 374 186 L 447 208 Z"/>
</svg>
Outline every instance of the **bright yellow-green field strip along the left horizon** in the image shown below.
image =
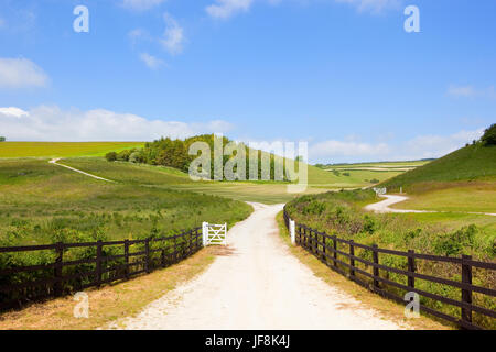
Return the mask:
<svg viewBox="0 0 496 352">
<path fill-rule="evenodd" d="M 142 142 L 1 142 L 0 157 L 103 156 L 141 147 Z"/>
</svg>

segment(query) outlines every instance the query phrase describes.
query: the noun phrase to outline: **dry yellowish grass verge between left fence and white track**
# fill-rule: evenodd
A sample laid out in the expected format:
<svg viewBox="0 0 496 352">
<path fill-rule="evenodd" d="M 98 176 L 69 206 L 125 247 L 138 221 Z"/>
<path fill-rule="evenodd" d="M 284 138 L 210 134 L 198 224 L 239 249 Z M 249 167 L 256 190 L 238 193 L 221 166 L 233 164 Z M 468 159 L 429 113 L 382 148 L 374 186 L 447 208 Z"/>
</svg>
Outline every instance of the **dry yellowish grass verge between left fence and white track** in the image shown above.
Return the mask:
<svg viewBox="0 0 496 352">
<path fill-rule="evenodd" d="M 72 296 L 33 304 L 19 311 L 0 315 L 0 330 L 94 330 L 118 319 L 139 314 L 180 284 L 203 273 L 215 260 L 215 248 L 206 248 L 183 262 L 136 277 L 129 282 L 85 290 L 89 318 L 74 318 Z M 147 289 L 143 289 L 147 287 Z"/>
</svg>

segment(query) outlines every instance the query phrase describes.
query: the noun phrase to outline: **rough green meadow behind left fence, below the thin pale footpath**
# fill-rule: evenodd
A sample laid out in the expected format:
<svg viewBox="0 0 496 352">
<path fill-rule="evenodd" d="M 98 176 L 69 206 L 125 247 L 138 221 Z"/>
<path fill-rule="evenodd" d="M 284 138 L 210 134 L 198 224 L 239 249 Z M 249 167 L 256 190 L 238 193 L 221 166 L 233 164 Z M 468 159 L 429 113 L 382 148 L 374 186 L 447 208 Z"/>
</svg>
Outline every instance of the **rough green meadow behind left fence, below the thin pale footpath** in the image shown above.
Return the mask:
<svg viewBox="0 0 496 352">
<path fill-rule="evenodd" d="M 251 208 L 197 193 L 96 180 L 46 160 L 0 160 L 0 246 L 143 238 L 203 221 L 233 224 Z"/>
</svg>

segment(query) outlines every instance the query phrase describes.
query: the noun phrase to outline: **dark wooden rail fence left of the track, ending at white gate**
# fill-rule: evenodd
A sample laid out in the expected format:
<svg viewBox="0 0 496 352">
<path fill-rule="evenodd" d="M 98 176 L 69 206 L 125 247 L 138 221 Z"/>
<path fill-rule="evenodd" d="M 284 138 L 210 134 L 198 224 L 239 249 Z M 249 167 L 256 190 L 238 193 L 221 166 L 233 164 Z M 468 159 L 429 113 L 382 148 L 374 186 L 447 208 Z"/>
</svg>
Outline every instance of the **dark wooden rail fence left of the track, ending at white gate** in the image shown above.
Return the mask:
<svg viewBox="0 0 496 352">
<path fill-rule="evenodd" d="M 184 260 L 202 246 L 202 228 L 195 228 L 175 235 L 144 240 L 0 248 L 0 256 L 40 251 L 55 256 L 52 263 L 10 265 L 0 270 L 0 310 L 151 273 Z M 76 255 L 83 257 L 66 260 L 65 253 L 71 250 L 83 251 Z M 36 277 L 33 273 L 43 274 Z"/>
</svg>

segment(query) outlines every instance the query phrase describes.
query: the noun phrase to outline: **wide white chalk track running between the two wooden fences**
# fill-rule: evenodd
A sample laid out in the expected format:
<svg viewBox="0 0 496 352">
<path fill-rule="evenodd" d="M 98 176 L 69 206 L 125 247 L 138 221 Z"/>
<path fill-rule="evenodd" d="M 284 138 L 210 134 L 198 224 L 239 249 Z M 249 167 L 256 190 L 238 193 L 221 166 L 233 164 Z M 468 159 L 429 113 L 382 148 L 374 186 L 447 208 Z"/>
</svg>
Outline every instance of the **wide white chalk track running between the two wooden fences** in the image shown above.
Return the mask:
<svg viewBox="0 0 496 352">
<path fill-rule="evenodd" d="M 331 287 L 293 256 L 276 223 L 282 205 L 251 205 L 252 215 L 230 229 L 224 254 L 203 274 L 153 301 L 137 317 L 106 328 L 408 328 Z"/>
</svg>

